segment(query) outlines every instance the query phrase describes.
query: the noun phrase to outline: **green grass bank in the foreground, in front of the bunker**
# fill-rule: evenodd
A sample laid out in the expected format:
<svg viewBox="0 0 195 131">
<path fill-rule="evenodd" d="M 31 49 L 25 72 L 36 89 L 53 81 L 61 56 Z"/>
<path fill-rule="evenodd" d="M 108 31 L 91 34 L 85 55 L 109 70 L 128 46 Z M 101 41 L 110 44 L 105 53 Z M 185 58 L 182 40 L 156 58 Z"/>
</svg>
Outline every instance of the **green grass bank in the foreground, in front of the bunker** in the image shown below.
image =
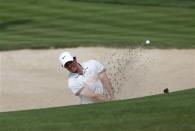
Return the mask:
<svg viewBox="0 0 195 131">
<path fill-rule="evenodd" d="M 1 131 L 194 131 L 195 89 L 109 103 L 0 113 Z"/>
</svg>

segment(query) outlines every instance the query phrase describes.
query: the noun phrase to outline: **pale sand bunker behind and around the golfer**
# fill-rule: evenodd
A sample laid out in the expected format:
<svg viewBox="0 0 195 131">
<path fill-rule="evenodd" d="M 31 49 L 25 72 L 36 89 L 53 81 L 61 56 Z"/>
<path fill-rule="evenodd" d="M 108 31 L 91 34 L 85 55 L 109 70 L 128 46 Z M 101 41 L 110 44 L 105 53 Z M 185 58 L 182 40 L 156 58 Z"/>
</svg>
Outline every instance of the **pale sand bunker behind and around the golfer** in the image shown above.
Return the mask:
<svg viewBox="0 0 195 131">
<path fill-rule="evenodd" d="M 79 62 L 107 67 L 117 99 L 195 87 L 195 50 L 71 48 L 0 52 L 0 112 L 79 104 L 67 88 L 58 56 L 70 51 Z"/>
</svg>

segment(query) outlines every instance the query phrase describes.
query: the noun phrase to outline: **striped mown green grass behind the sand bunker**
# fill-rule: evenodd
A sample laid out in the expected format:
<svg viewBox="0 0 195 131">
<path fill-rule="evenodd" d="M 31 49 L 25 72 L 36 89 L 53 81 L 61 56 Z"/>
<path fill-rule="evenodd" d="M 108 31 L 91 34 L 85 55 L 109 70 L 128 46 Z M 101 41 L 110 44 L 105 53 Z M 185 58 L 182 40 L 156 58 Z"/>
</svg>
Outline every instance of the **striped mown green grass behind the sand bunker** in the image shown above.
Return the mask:
<svg viewBox="0 0 195 131">
<path fill-rule="evenodd" d="M 148 48 L 195 48 L 193 1 L 106 1 L 0 0 L 0 50 L 145 47 L 147 39 Z"/>
</svg>

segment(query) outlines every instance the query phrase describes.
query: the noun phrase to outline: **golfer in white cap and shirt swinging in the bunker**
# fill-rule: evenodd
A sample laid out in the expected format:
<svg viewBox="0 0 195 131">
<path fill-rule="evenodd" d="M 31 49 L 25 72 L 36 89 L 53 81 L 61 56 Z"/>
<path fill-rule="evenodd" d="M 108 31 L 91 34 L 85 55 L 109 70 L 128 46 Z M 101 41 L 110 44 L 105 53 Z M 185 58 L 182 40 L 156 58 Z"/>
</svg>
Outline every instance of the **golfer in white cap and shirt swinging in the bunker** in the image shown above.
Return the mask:
<svg viewBox="0 0 195 131">
<path fill-rule="evenodd" d="M 114 91 L 106 75 L 106 68 L 96 60 L 78 63 L 76 56 L 63 52 L 60 64 L 67 69 L 68 87 L 80 97 L 81 104 L 105 102 L 114 99 Z"/>
</svg>

